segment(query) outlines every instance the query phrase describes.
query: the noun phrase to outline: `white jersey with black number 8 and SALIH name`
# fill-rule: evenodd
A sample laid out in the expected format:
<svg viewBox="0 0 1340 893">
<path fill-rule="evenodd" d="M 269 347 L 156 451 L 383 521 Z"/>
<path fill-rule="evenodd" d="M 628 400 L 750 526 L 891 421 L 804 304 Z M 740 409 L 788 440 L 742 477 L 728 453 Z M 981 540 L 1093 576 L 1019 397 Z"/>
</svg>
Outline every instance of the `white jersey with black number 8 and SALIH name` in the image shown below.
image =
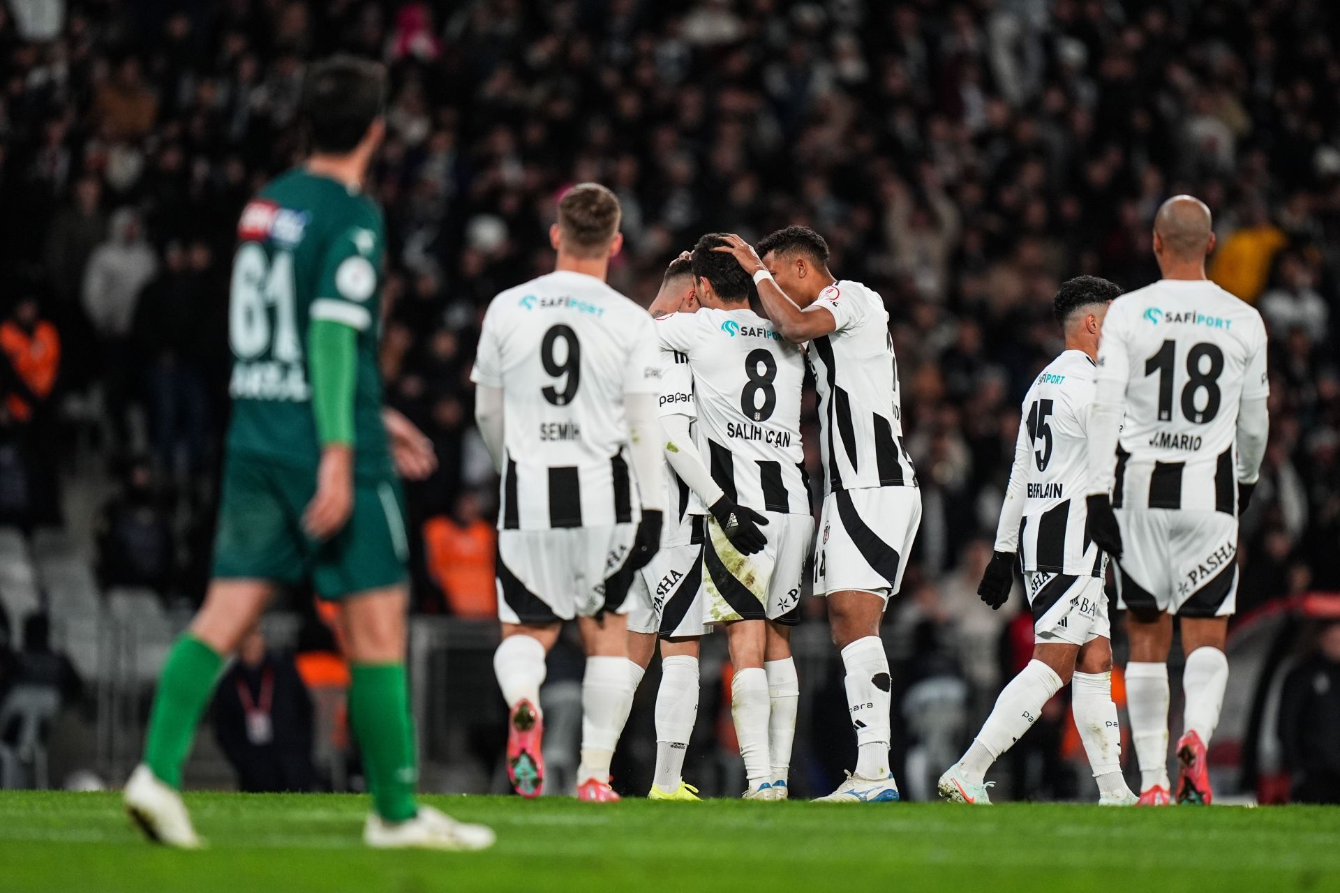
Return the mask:
<svg viewBox="0 0 1340 893">
<path fill-rule="evenodd" d="M 803 351 L 748 308 L 655 321 L 661 349 L 689 357 L 694 442 L 728 497 L 758 511 L 809 514 L 800 444 Z"/>
</svg>

